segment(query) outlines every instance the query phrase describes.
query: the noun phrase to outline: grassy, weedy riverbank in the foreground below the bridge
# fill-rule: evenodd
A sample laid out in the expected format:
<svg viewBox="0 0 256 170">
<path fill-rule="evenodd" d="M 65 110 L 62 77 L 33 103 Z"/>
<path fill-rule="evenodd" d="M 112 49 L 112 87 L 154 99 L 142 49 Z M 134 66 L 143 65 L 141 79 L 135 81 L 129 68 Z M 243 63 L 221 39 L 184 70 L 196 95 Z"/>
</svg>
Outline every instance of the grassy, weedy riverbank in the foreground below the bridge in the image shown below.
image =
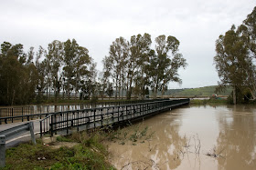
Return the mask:
<svg viewBox="0 0 256 170">
<path fill-rule="evenodd" d="M 5 168 L 11 169 L 116 169 L 110 162 L 108 145 L 138 145 L 151 140 L 152 132 L 143 123 L 125 128 L 105 126 L 73 135 L 59 135 L 54 142 L 49 137 L 6 150 Z"/>
</svg>

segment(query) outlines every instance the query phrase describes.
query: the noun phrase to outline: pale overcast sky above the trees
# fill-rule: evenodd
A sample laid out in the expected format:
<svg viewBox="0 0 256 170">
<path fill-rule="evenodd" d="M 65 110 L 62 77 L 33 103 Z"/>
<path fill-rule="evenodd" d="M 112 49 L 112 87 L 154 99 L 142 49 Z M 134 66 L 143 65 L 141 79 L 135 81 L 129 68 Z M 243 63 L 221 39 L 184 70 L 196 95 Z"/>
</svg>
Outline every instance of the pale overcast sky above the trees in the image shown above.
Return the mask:
<svg viewBox="0 0 256 170">
<path fill-rule="evenodd" d="M 28 51 L 75 38 L 101 71 L 115 38 L 148 33 L 155 41 L 173 35 L 188 66 L 179 71 L 182 85 L 169 88 L 217 85 L 215 41 L 254 6 L 255 0 L 0 0 L 0 44 L 22 44 Z"/>
</svg>

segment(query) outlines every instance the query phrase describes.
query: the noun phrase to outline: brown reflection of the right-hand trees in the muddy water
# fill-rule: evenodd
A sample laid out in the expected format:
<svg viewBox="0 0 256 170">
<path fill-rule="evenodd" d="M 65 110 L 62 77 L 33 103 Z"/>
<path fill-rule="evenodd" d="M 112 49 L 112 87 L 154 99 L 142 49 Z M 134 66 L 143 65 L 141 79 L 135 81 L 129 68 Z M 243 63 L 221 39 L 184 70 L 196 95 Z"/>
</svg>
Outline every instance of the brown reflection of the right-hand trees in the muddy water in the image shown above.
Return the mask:
<svg viewBox="0 0 256 170">
<path fill-rule="evenodd" d="M 228 106 L 229 114 L 219 117 L 217 150 L 225 159 L 218 159 L 219 169 L 256 169 L 255 107 Z"/>
</svg>

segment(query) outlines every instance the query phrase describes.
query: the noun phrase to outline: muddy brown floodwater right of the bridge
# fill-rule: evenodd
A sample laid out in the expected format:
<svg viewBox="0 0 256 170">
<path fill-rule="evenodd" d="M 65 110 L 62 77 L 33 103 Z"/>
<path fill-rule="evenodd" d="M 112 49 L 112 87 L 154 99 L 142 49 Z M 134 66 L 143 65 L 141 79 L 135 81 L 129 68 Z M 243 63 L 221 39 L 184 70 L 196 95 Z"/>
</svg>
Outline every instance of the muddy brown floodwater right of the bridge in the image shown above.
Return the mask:
<svg viewBox="0 0 256 170">
<path fill-rule="evenodd" d="M 117 169 L 256 169 L 255 105 L 184 106 L 143 125 L 150 139 L 108 144 Z"/>
</svg>

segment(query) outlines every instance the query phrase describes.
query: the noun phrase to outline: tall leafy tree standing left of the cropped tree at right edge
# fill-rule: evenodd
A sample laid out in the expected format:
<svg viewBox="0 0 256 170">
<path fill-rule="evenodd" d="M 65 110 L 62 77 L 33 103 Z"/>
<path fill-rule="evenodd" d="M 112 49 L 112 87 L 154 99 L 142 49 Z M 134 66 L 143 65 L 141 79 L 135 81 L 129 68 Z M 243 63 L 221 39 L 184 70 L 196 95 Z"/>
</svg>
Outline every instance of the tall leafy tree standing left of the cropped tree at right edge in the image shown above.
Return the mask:
<svg viewBox="0 0 256 170">
<path fill-rule="evenodd" d="M 216 41 L 214 62 L 219 74 L 219 86 L 233 87 L 233 103 L 237 104 L 237 92 L 246 86 L 247 68 L 251 65 L 246 42 L 243 41 L 236 27 L 219 35 Z"/>
</svg>

